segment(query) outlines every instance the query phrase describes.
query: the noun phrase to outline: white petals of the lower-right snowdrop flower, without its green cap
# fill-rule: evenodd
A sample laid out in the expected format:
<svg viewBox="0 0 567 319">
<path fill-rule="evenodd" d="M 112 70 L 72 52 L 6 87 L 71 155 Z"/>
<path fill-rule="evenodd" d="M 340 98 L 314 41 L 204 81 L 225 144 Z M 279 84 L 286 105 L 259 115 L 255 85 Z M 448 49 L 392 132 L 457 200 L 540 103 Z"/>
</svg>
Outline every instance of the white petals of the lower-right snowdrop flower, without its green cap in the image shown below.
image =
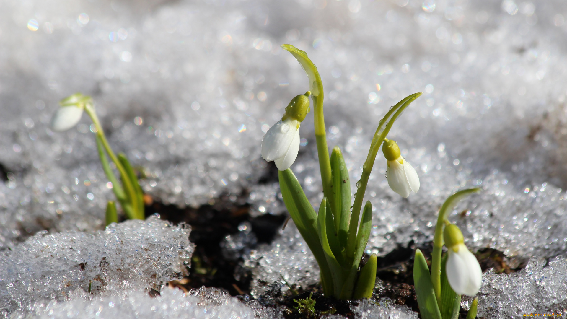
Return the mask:
<svg viewBox="0 0 567 319">
<path fill-rule="evenodd" d="M 464 244 L 459 245 L 456 253 L 450 248 L 448 254 L 446 272 L 451 288 L 459 295 L 474 297 L 483 283 L 483 272 L 475 255 Z"/>
</svg>

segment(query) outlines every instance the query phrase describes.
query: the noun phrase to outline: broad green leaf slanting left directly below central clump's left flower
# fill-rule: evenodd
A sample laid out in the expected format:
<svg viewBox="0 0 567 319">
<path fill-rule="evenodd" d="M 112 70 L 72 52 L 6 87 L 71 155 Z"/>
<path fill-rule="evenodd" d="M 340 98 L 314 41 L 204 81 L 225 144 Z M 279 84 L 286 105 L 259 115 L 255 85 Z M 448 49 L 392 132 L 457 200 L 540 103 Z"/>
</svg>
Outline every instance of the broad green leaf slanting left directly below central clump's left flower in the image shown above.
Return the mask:
<svg viewBox="0 0 567 319">
<path fill-rule="evenodd" d="M 321 270 L 321 284 L 325 295 L 333 295 L 333 280 L 327 257 L 319 240 L 317 215 L 307 200 L 299 181 L 290 169 L 278 171 L 280 191 L 295 226 L 315 256 Z"/>
</svg>

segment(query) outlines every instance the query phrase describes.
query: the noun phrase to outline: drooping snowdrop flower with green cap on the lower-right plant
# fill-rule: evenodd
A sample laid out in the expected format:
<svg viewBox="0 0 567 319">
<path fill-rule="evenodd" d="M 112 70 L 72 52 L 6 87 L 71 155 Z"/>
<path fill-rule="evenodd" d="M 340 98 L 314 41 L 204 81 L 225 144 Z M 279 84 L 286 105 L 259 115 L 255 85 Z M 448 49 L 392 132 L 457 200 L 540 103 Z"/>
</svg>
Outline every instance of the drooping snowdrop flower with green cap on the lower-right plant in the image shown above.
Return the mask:
<svg viewBox="0 0 567 319">
<path fill-rule="evenodd" d="M 448 224 L 443 237 L 448 249 L 445 269 L 451 288 L 459 295 L 474 297 L 483 283 L 483 271 L 479 262 L 464 245 L 463 233 L 459 227 Z"/>
</svg>

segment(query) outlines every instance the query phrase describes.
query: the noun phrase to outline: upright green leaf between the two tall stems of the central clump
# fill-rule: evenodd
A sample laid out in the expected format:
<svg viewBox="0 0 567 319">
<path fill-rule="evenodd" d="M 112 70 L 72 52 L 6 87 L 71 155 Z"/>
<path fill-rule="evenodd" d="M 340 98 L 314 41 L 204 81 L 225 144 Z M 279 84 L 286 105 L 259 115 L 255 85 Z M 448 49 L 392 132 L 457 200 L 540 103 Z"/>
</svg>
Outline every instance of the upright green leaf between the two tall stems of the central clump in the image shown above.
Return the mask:
<svg viewBox="0 0 567 319">
<path fill-rule="evenodd" d="M 341 248 L 346 248 L 347 232 L 350 221 L 350 179 L 345 159 L 338 146 L 331 153 L 331 171 L 333 174 L 333 192 L 335 192 L 335 227 L 338 231 L 338 240 Z M 338 213 L 336 212 L 338 211 Z M 338 215 L 338 216 L 337 216 Z"/>
</svg>

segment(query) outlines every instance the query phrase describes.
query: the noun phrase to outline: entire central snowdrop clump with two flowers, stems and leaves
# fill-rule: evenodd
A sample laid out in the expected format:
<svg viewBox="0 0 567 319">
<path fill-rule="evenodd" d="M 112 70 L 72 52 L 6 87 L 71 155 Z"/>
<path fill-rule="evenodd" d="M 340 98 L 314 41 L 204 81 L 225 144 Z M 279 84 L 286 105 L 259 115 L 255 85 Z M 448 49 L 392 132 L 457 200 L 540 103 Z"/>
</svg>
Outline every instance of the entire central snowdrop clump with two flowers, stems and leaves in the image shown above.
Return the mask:
<svg viewBox="0 0 567 319">
<path fill-rule="evenodd" d="M 350 178 L 341 149 L 335 146 L 329 157 L 323 115 L 323 84 L 319 72 L 305 52 L 289 44 L 282 45 L 282 48 L 293 54 L 301 64 L 310 86 L 306 94 L 298 95 L 290 102 L 282 120 L 266 133 L 262 143 L 262 157 L 266 161 L 276 162 L 282 198 L 299 233 L 319 264 L 324 295 L 343 300 L 369 298 L 376 280 L 376 255 L 371 255 L 366 265 L 358 271 L 372 227 L 372 204 L 366 202 L 362 209 L 366 184 L 380 145 L 389 141 L 386 135 L 393 123 L 421 93 L 401 100 L 378 123 L 368 157 L 362 166 L 361 179 L 356 182 L 357 192 L 353 203 Z M 299 181 L 289 169 L 299 149 L 299 123 L 310 111 L 308 97 L 311 97 L 314 104 L 315 139 L 323 182 L 323 200 L 319 205 L 319 213 L 315 213 Z M 393 141 L 388 145 L 397 148 Z M 403 194 L 394 187 L 392 189 L 404 197 L 410 191 L 417 192 L 419 179 L 413 167 L 404 161 L 399 152 L 390 153 L 388 156 L 393 156 L 391 160 L 399 163 L 392 169 L 392 174 L 401 172 L 396 175 L 397 179 L 393 183 L 403 190 Z M 388 182 L 392 184 L 390 179 Z"/>
</svg>

